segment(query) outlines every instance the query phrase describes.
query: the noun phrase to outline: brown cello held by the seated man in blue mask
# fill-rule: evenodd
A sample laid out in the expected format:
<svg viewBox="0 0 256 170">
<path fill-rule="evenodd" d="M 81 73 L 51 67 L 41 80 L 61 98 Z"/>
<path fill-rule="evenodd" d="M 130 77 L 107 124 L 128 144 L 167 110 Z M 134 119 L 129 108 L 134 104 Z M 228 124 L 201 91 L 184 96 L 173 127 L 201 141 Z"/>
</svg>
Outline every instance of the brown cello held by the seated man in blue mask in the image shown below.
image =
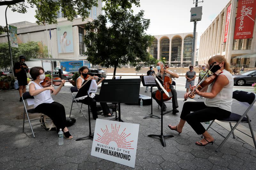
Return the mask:
<svg viewBox="0 0 256 170">
<path fill-rule="evenodd" d="M 169 68 L 168 65 L 165 65 L 164 70 L 166 70 L 167 68 Z M 169 93 L 171 92 L 170 86 L 172 85 L 172 79 L 169 76 L 165 76 L 166 73 L 164 73 L 163 75 L 163 86 L 164 89 Z M 161 100 L 161 92 L 158 90 L 156 91 L 156 99 L 157 100 Z M 163 94 L 163 101 L 168 101 L 172 99 L 172 97 L 168 97 L 165 93 Z"/>
</svg>

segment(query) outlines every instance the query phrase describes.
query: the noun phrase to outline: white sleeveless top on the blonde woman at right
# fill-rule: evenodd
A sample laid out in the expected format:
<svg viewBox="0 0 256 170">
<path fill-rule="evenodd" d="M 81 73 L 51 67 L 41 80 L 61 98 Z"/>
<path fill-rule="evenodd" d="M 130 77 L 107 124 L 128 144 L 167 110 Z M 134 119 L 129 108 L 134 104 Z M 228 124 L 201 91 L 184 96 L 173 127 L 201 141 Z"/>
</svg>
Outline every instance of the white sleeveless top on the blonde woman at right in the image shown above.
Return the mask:
<svg viewBox="0 0 256 170">
<path fill-rule="evenodd" d="M 225 75 L 228 78 L 228 85 L 224 86 L 213 99 L 204 98 L 204 104 L 208 107 L 220 107 L 221 109 L 231 112 L 234 78 L 232 74 L 225 69 L 220 75 Z M 207 92 L 211 92 L 214 82 L 208 86 Z"/>
</svg>

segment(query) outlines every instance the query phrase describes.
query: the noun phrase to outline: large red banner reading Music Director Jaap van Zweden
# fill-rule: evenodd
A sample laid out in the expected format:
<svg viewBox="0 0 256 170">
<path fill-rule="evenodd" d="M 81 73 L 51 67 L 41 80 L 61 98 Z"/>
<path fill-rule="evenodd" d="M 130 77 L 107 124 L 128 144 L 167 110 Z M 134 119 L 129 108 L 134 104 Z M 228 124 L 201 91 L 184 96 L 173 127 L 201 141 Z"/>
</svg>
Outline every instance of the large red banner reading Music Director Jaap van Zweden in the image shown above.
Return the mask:
<svg viewBox="0 0 256 170">
<path fill-rule="evenodd" d="M 255 15 L 255 0 L 238 1 L 234 39 L 252 38 Z"/>
</svg>

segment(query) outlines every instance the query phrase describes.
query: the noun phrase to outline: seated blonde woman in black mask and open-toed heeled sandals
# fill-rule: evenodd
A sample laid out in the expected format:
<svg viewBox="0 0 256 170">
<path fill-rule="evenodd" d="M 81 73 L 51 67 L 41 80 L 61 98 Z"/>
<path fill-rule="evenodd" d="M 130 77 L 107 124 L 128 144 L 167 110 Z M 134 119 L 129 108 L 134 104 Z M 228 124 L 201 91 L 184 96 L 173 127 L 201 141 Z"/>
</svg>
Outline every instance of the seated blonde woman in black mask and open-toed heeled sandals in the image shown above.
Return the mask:
<svg viewBox="0 0 256 170">
<path fill-rule="evenodd" d="M 204 136 L 204 139 L 195 143 L 199 146 L 204 146 L 209 143 L 213 144 L 214 141 L 214 138 L 204 129 L 200 122 L 227 118 L 231 113 L 234 79 L 231 74 L 230 65 L 222 55 L 212 56 L 208 64 L 210 68 L 212 68 L 211 71 L 213 73 L 217 70 L 221 72 L 215 81 L 208 86 L 206 92 L 196 89 L 196 94 L 203 96 L 204 102 L 188 101 L 184 103 L 179 124 L 176 126 L 168 125 L 171 130 L 176 130 L 180 134 L 185 122 L 188 122 L 198 135 Z M 191 91 L 194 90 L 194 88 L 195 86 L 190 86 Z M 188 95 L 188 92 L 185 93 L 184 98 L 187 99 Z"/>
</svg>

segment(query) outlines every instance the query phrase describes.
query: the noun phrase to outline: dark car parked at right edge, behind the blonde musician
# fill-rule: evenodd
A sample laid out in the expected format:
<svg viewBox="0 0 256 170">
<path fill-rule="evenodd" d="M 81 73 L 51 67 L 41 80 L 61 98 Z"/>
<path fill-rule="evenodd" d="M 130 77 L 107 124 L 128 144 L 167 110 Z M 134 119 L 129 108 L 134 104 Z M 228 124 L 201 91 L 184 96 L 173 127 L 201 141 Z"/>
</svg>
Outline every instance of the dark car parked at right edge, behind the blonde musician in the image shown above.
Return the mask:
<svg viewBox="0 0 256 170">
<path fill-rule="evenodd" d="M 256 82 L 256 70 L 246 71 L 241 74 L 233 75 L 236 85 L 252 84 Z"/>
</svg>

